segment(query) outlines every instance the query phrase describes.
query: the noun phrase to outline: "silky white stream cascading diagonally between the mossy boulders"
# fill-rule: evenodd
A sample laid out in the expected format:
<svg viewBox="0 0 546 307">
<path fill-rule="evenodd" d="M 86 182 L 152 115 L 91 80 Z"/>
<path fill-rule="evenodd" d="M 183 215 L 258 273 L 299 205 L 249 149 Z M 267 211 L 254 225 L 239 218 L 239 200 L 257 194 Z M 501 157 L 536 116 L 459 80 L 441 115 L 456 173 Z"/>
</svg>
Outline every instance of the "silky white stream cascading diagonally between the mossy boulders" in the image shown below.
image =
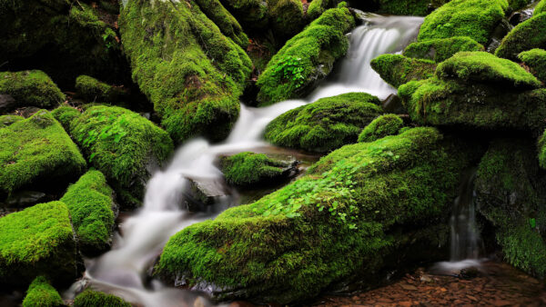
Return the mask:
<svg viewBox="0 0 546 307">
<path fill-rule="evenodd" d="M 208 144 L 197 139 L 181 146 L 165 170 L 158 171 L 147 183 L 144 207 L 120 224 L 112 250 L 86 261 L 86 278 L 66 292 L 74 297 L 86 282 L 97 290 L 111 292 L 128 302 L 145 306 L 208 305 L 197 292 L 167 287 L 148 280 L 148 271 L 167 240 L 193 223 L 213 218 L 233 203 L 229 191 L 217 199 L 210 213 L 188 213 L 181 209 L 188 179 L 206 181 L 225 191 L 222 173 L 214 165 L 218 155 L 238 153 L 267 145 L 262 141 L 266 125 L 280 114 L 321 97 L 349 92 L 367 92 L 386 98 L 396 92 L 369 66 L 379 54 L 398 53 L 419 31 L 422 18 L 367 15 L 367 24 L 350 35 L 347 56 L 327 82 L 305 100 L 291 100 L 265 108 L 241 104 L 238 122 L 224 144 Z"/>
</svg>

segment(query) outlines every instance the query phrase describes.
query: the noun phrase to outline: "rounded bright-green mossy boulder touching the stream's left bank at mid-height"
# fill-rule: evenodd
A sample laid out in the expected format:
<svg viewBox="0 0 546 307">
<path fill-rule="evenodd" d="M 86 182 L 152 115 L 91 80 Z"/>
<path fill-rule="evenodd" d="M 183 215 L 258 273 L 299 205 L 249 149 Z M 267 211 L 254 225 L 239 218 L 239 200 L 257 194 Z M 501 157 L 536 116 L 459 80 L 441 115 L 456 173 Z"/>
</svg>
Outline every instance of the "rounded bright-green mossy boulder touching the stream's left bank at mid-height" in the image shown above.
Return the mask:
<svg viewBox="0 0 546 307">
<path fill-rule="evenodd" d="M 106 175 L 123 203 L 137 205 L 153 169 L 173 151 L 156 124 L 117 106 L 92 106 L 70 125 L 89 163 Z"/>
</svg>

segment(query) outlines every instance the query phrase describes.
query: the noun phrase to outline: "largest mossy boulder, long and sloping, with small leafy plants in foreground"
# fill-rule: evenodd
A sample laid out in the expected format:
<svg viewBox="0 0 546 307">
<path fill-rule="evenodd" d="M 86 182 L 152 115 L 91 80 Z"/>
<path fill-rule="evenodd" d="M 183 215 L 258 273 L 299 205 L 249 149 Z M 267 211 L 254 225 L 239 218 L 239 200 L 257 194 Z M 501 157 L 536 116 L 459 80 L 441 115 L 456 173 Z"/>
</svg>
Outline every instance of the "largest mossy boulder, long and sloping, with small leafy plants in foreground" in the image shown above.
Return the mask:
<svg viewBox="0 0 546 307">
<path fill-rule="evenodd" d="M 448 241 L 444 218 L 469 163 L 441 139 L 415 128 L 329 153 L 281 190 L 171 237 L 156 275 L 213 284 L 218 299 L 288 303 L 430 257 Z"/>
</svg>

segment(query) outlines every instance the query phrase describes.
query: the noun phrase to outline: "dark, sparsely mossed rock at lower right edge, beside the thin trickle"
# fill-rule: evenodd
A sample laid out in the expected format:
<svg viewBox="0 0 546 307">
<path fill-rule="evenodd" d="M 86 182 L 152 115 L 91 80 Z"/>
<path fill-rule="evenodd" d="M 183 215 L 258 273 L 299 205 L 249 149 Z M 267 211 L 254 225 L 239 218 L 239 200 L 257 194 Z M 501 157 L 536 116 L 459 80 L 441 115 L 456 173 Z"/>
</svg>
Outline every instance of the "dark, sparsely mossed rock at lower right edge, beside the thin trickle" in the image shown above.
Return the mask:
<svg viewBox="0 0 546 307">
<path fill-rule="evenodd" d="M 530 140 L 490 144 L 476 177 L 476 202 L 494 227 L 507 262 L 546 276 L 546 190 Z"/>
</svg>

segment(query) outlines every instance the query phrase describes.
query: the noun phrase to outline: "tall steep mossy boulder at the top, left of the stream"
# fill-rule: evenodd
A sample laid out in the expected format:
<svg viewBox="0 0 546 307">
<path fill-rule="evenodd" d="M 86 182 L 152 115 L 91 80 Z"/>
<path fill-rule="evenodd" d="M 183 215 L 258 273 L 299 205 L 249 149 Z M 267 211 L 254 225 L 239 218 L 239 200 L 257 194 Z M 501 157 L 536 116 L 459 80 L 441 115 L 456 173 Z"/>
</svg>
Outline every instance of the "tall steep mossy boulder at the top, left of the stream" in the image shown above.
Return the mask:
<svg viewBox="0 0 546 307">
<path fill-rule="evenodd" d="M 226 137 L 252 69 L 243 49 L 194 1 L 129 1 L 119 26 L 133 79 L 173 139 Z"/>
</svg>

